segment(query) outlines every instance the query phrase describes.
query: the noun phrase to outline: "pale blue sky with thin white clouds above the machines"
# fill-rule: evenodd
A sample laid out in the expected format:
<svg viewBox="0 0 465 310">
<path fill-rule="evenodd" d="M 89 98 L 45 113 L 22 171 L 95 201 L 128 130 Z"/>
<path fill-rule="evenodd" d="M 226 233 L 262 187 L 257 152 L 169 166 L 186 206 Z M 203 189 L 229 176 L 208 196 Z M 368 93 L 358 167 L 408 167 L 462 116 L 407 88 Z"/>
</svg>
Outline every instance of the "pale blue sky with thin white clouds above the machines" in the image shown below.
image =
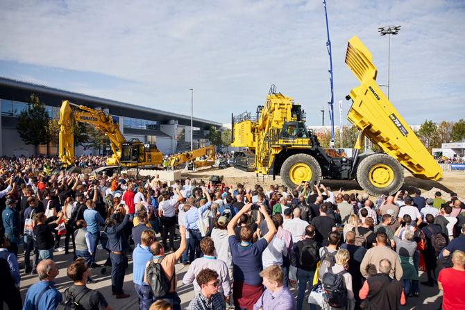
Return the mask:
<svg viewBox="0 0 465 310">
<path fill-rule="evenodd" d="M 271 84 L 301 103 L 310 126 L 328 111 L 323 1 L 0 1 L 0 76 L 230 123 L 255 112 Z M 358 80 L 344 63 L 357 35 L 378 83 L 407 123 L 465 118 L 464 1 L 327 3 L 337 103 Z M 385 88 L 382 87 L 384 91 Z M 66 99 L 66 98 L 63 98 Z M 328 124 L 326 112 L 326 124 Z"/>
</svg>

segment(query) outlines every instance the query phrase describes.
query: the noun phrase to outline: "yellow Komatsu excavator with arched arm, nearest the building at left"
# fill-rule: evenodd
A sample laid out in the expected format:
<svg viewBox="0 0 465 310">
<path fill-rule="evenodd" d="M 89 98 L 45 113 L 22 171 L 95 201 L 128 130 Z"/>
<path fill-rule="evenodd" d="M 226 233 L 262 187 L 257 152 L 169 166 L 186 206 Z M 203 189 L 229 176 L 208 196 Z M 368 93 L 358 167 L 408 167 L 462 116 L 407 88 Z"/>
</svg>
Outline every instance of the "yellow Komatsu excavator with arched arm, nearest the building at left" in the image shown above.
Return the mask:
<svg viewBox="0 0 465 310">
<path fill-rule="evenodd" d="M 76 107 L 71 109 L 71 106 Z M 162 164 L 162 153 L 155 145 L 142 144 L 139 140 L 126 141 L 119 131 L 119 124 L 107 113 L 62 101 L 60 108 L 60 159 L 64 168 L 74 165 L 74 121 L 90 123 L 101 130 L 109 139 L 112 157 L 98 172 L 108 169 L 151 169 Z"/>
</svg>

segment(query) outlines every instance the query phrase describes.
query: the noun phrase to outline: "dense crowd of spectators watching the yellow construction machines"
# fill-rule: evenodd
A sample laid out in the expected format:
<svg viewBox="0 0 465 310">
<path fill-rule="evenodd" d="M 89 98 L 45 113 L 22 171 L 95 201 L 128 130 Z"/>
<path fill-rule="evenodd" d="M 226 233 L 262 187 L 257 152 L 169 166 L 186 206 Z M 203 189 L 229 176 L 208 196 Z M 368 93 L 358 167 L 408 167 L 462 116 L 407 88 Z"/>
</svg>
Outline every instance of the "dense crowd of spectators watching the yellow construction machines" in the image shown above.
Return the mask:
<svg viewBox="0 0 465 310">
<path fill-rule="evenodd" d="M 132 251 L 141 310 L 180 309 L 176 264 L 187 267 L 183 284 L 196 293 L 189 310 L 301 310 L 309 293 L 310 309 L 398 309 L 410 298 L 427 297 L 421 285 L 443 290 L 442 309 L 465 309 L 465 206 L 456 193 L 447 202 L 441 192 L 425 199 L 418 189 L 373 201 L 366 193 L 307 182 L 290 190 L 189 179 L 169 186 L 158 175 L 90 178 L 53 172 L 56 164 L 41 158 L 1 162 L 0 302 L 10 309 L 69 303 L 112 309 L 86 286 L 94 282 L 90 268 L 101 268 L 98 251 L 108 252 L 105 266 L 111 266 L 117 299 L 130 297 L 123 283 Z M 54 286 L 56 251 L 70 261 L 73 255 L 67 268 L 73 284 L 64 293 Z M 418 270 L 427 281 L 419 282 Z M 39 277 L 24 301 L 22 273 Z"/>
</svg>

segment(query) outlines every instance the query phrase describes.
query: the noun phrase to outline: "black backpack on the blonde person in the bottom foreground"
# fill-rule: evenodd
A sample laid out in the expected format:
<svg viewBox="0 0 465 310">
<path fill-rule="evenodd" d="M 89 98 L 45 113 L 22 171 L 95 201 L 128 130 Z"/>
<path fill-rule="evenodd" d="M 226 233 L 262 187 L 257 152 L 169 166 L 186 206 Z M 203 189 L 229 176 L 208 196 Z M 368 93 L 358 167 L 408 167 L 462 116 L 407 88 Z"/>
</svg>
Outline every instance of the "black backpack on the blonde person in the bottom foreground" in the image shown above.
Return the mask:
<svg viewBox="0 0 465 310">
<path fill-rule="evenodd" d="M 346 270 L 340 273 L 333 273 L 332 268 L 328 268 L 328 272 L 323 275 L 323 290 L 325 301 L 328 302 L 330 307 L 343 308 L 347 304 L 347 289 L 346 282 L 344 282 L 343 274 Z"/>
</svg>

